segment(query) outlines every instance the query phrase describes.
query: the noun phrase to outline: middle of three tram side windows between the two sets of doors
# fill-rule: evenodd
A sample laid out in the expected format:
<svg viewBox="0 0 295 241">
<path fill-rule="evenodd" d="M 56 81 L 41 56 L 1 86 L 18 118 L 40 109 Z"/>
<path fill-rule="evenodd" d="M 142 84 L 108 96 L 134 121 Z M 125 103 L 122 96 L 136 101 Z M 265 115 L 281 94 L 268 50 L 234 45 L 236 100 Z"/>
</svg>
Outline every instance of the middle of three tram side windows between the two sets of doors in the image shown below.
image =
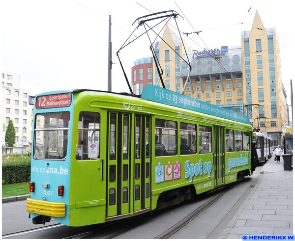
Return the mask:
<svg viewBox="0 0 295 241">
<path fill-rule="evenodd" d="M 180 123 L 180 155 L 196 154 L 196 125 Z"/>
</svg>

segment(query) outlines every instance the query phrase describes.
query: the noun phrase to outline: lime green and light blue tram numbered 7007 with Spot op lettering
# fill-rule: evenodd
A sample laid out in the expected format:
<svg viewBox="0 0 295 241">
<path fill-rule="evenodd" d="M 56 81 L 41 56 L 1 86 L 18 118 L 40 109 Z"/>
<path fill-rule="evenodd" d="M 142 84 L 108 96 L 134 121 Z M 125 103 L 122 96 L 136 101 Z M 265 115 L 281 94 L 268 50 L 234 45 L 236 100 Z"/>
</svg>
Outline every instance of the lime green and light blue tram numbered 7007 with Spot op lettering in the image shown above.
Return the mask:
<svg viewBox="0 0 295 241">
<path fill-rule="evenodd" d="M 247 116 L 147 85 L 36 96 L 34 224 L 84 226 L 175 205 L 251 175 Z"/>
</svg>

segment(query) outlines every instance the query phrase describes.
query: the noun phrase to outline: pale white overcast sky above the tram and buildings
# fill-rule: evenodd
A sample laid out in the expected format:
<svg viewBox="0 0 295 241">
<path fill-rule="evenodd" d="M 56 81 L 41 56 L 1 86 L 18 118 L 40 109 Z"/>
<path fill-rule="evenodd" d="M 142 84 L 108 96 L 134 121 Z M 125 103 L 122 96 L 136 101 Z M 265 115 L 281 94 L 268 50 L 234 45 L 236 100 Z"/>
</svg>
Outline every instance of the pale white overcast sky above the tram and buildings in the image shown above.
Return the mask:
<svg viewBox="0 0 295 241">
<path fill-rule="evenodd" d="M 181 15 L 177 18 L 180 32 L 202 30 L 199 36 L 186 37 L 193 49 L 201 50 L 240 46 L 241 30 L 251 29 L 258 10 L 264 26 L 276 27 L 279 35 L 282 78 L 291 103 L 295 48 L 290 1 L 2 0 L 0 4 L 2 70 L 20 75 L 20 87 L 28 89 L 30 95 L 58 89 L 107 90 L 109 15 L 112 91 L 129 92 L 116 53 L 135 29 L 136 24 L 132 24 L 137 18 L 175 10 Z M 129 80 L 133 62 L 148 56 L 147 36 L 120 51 Z"/>
</svg>

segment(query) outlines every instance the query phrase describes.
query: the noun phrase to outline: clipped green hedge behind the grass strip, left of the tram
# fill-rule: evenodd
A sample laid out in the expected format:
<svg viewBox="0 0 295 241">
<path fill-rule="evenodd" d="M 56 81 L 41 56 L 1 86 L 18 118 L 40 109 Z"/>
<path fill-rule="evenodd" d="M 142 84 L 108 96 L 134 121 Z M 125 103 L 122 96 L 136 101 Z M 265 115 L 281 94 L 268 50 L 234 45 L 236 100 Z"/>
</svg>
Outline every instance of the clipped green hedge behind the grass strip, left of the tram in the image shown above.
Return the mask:
<svg viewBox="0 0 295 241">
<path fill-rule="evenodd" d="M 2 155 L 2 184 L 30 181 L 30 157 L 27 155 Z"/>
</svg>

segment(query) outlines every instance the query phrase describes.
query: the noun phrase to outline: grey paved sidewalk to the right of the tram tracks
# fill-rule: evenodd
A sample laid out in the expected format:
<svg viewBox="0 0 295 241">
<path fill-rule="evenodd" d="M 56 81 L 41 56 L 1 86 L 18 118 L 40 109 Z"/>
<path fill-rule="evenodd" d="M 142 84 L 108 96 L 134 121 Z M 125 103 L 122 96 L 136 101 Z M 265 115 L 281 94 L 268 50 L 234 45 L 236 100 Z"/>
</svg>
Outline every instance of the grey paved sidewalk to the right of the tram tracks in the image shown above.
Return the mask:
<svg viewBox="0 0 295 241">
<path fill-rule="evenodd" d="M 282 159 L 277 163 L 273 155 L 262 167 L 262 178 L 219 239 L 293 234 L 293 170 L 284 171 Z"/>
</svg>

